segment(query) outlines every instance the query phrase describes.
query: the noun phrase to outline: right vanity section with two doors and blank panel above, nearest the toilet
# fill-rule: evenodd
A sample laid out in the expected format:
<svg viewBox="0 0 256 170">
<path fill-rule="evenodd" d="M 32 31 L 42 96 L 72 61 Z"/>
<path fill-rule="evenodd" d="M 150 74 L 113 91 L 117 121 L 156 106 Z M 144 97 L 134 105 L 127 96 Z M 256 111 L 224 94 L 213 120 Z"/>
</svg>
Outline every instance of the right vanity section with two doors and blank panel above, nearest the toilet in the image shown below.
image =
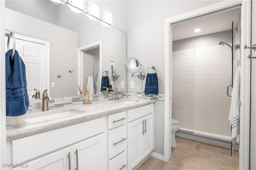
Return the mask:
<svg viewBox="0 0 256 170">
<path fill-rule="evenodd" d="M 128 169 L 136 167 L 154 149 L 153 104 L 127 111 Z"/>
</svg>

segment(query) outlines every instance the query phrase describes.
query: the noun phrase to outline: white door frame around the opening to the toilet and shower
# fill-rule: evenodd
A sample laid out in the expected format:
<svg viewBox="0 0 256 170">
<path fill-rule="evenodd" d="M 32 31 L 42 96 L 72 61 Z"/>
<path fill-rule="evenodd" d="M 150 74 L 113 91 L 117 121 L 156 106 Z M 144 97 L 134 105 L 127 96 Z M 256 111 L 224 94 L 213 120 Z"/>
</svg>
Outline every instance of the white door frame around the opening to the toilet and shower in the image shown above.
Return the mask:
<svg viewBox="0 0 256 170">
<path fill-rule="evenodd" d="M 229 1 L 225 0 L 206 6 L 191 12 L 180 14 L 165 20 L 165 101 L 164 101 L 164 161 L 168 162 L 171 158 L 170 145 L 170 122 L 172 119 L 172 24 L 200 17 L 211 12 L 224 10 L 237 5 L 241 6 L 241 47 L 250 43 L 250 2 L 247 0 Z M 241 72 L 242 72 L 242 106 L 240 111 L 240 158 L 239 169 L 248 169 L 249 167 L 249 122 L 250 117 L 250 65 L 247 59 L 249 50 L 241 50 Z"/>
</svg>

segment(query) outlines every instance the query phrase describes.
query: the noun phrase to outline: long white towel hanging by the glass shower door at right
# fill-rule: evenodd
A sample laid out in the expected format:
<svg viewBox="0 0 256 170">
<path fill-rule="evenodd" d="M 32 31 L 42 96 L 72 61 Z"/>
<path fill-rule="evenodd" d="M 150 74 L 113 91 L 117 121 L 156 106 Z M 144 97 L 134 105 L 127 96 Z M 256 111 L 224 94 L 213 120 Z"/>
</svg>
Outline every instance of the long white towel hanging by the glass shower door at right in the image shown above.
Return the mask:
<svg viewBox="0 0 256 170">
<path fill-rule="evenodd" d="M 240 84 L 241 84 L 241 66 L 236 69 L 236 75 L 232 88 L 231 106 L 228 119 L 232 125 L 231 139 L 233 145 L 236 143 L 236 137 L 239 135 L 240 124 Z"/>
</svg>

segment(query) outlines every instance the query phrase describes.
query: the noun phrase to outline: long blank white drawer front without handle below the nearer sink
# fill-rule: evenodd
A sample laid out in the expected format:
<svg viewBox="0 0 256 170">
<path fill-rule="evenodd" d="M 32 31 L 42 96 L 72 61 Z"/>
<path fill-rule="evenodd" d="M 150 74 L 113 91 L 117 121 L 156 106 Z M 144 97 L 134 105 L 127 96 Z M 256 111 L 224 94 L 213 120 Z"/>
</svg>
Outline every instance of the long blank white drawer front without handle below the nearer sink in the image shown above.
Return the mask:
<svg viewBox="0 0 256 170">
<path fill-rule="evenodd" d="M 12 162 L 20 163 L 104 132 L 104 117 L 12 140 Z"/>
</svg>

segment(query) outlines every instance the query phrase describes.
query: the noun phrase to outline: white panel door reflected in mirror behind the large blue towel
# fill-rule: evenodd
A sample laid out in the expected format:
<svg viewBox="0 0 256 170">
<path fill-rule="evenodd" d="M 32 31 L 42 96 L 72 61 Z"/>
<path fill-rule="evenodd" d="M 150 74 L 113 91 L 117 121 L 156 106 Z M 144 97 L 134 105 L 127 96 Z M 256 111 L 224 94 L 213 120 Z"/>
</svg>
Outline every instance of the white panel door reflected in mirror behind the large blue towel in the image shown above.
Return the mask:
<svg viewBox="0 0 256 170">
<path fill-rule="evenodd" d="M 12 49 L 12 38 L 10 49 Z M 16 39 L 16 50 L 26 66 L 28 96 L 32 99 L 35 94 L 34 89 L 38 89 L 41 94 L 46 89 L 46 45 Z"/>
</svg>

